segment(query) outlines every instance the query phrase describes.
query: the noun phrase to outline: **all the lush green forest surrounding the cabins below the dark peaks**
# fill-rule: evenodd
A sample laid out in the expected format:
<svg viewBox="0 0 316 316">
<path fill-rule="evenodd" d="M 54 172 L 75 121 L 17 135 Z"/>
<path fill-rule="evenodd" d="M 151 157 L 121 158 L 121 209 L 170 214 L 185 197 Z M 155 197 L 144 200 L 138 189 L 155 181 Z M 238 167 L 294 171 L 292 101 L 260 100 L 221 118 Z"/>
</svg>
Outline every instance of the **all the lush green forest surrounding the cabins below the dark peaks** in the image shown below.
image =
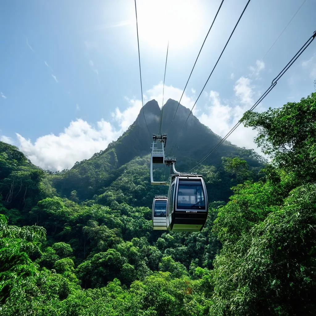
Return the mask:
<svg viewBox="0 0 316 316">
<path fill-rule="evenodd" d="M 201 166 L 198 233 L 152 230 L 148 151 L 127 141 L 137 124 L 58 174 L 0 142 L 0 314 L 315 315 L 315 118 L 316 93 L 247 112 L 272 164 L 227 144 Z M 126 161 L 123 141 L 137 149 Z"/>
</svg>

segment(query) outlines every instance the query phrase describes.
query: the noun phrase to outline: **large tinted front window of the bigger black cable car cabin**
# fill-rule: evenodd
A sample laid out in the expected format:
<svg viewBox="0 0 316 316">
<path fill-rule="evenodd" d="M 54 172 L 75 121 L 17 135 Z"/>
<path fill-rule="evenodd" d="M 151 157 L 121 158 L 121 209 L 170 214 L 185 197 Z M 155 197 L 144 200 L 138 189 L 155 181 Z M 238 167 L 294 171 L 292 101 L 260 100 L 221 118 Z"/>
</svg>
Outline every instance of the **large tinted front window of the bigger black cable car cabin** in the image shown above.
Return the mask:
<svg viewBox="0 0 316 316">
<path fill-rule="evenodd" d="M 179 180 L 177 209 L 205 210 L 201 180 Z"/>
</svg>

